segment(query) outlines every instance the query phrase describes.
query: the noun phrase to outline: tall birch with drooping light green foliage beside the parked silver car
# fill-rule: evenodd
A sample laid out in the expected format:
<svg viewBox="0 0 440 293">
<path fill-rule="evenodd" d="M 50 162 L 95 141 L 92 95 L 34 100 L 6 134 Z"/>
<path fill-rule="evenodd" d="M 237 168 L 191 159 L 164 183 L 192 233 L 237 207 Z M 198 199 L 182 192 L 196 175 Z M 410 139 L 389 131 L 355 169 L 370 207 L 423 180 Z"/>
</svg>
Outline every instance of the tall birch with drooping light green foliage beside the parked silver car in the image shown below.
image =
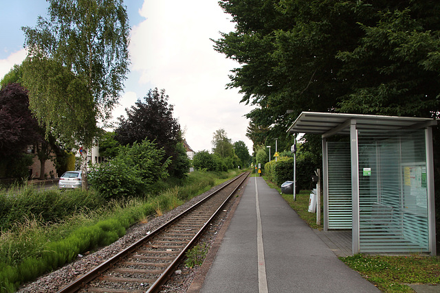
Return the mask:
<svg viewBox="0 0 440 293">
<path fill-rule="evenodd" d="M 81 169 L 87 187 L 87 149 L 107 119 L 128 73 L 129 23 L 122 0 L 48 0 L 50 19 L 23 27 L 29 51 L 23 84 L 30 108 L 71 147 L 83 146 Z"/>
</svg>

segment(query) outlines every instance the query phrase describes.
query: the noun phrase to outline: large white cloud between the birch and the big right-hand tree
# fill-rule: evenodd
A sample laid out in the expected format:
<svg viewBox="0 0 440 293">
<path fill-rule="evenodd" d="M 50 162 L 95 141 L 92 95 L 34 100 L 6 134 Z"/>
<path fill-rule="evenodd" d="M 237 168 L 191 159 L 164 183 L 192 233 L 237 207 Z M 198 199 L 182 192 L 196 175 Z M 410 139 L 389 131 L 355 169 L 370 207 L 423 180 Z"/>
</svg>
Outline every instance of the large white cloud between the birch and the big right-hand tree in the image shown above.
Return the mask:
<svg viewBox="0 0 440 293">
<path fill-rule="evenodd" d="M 243 117 L 251 108 L 239 104 L 238 91 L 225 90 L 238 65 L 214 51 L 210 40 L 234 30 L 217 1 L 146 0 L 140 14 L 146 20 L 132 28 L 130 45 L 138 86 L 166 90 L 193 150 L 211 150 L 213 133 L 223 128 L 252 152 Z"/>
</svg>

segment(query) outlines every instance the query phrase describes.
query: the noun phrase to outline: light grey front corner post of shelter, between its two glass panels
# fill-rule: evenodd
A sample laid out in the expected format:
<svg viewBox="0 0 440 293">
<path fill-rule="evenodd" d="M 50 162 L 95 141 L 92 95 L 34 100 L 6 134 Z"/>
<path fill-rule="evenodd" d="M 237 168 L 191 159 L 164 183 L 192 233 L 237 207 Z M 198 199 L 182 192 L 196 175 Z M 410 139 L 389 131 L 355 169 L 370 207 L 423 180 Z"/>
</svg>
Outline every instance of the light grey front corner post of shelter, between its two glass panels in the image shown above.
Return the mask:
<svg viewBox="0 0 440 293">
<path fill-rule="evenodd" d="M 351 152 L 351 198 L 352 198 L 352 250 L 353 255 L 360 252 L 360 227 L 359 227 L 359 152 L 358 130 L 356 120 L 351 119 L 350 124 L 350 152 Z"/>
</svg>

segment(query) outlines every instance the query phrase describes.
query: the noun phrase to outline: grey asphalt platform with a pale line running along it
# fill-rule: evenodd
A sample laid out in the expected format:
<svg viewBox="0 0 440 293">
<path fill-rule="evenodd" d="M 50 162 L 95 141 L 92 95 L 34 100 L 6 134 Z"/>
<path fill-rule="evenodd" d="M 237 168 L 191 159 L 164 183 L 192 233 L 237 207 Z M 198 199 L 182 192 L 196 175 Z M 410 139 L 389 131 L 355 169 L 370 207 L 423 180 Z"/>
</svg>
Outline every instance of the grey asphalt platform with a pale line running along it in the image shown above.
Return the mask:
<svg viewBox="0 0 440 293">
<path fill-rule="evenodd" d="M 200 292 L 380 292 L 316 232 L 250 178 Z"/>
</svg>

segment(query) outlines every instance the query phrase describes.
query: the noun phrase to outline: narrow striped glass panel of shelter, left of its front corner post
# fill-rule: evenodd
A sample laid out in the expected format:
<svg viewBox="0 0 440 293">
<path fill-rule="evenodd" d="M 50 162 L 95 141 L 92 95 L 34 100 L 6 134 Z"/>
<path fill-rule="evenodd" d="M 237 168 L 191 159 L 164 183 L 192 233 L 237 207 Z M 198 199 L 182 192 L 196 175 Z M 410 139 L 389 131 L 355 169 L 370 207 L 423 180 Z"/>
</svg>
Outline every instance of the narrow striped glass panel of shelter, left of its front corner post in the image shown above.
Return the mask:
<svg viewBox="0 0 440 293">
<path fill-rule="evenodd" d="M 329 141 L 329 229 L 351 229 L 350 143 Z"/>
</svg>

